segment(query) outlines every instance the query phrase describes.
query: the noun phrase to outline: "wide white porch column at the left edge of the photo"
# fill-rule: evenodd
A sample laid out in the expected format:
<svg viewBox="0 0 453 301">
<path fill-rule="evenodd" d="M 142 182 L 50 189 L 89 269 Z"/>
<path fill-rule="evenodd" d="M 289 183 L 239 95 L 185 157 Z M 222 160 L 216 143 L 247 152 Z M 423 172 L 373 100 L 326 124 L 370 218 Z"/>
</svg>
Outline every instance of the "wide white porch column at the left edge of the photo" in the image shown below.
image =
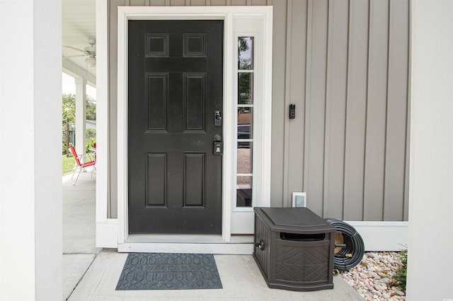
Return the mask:
<svg viewBox="0 0 453 301">
<path fill-rule="evenodd" d="M 0 1 L 0 300 L 62 300 L 62 1 Z"/>
</svg>

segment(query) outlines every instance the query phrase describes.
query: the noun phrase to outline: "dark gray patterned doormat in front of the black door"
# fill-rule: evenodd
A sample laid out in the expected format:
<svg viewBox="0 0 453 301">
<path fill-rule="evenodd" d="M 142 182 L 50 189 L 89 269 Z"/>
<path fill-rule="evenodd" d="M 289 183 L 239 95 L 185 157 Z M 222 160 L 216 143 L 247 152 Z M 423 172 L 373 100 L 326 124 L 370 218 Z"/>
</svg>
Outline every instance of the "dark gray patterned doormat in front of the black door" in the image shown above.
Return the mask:
<svg viewBox="0 0 453 301">
<path fill-rule="evenodd" d="M 212 254 L 130 253 L 116 290 L 222 288 Z"/>
</svg>

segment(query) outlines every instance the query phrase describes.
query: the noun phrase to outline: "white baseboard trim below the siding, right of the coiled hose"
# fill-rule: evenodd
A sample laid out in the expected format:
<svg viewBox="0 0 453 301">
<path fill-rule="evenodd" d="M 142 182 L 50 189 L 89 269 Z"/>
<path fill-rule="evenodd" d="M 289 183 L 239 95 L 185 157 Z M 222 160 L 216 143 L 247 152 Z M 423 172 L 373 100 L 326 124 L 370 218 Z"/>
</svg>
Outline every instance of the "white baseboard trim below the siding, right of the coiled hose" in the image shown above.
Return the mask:
<svg viewBox="0 0 453 301">
<path fill-rule="evenodd" d="M 401 251 L 408 244 L 408 222 L 346 221 L 359 232 L 365 251 Z"/>
</svg>

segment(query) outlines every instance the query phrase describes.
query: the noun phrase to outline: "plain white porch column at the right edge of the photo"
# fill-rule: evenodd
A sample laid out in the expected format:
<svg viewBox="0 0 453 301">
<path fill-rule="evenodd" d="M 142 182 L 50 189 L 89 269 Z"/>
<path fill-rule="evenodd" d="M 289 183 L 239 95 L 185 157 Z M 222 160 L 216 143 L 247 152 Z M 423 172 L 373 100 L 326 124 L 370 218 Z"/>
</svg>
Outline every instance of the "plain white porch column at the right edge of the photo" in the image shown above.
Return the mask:
<svg viewBox="0 0 453 301">
<path fill-rule="evenodd" d="M 453 300 L 453 1 L 411 4 L 407 300 Z"/>
</svg>

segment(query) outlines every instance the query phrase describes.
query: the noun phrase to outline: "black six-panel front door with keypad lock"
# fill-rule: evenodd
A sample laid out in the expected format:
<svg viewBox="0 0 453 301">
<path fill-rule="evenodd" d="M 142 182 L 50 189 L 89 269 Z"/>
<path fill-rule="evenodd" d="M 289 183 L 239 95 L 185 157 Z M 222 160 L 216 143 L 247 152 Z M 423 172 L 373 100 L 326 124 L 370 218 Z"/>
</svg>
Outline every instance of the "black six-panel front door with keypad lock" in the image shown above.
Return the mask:
<svg viewBox="0 0 453 301">
<path fill-rule="evenodd" d="M 221 232 L 222 76 L 222 20 L 129 21 L 130 233 Z"/>
</svg>

